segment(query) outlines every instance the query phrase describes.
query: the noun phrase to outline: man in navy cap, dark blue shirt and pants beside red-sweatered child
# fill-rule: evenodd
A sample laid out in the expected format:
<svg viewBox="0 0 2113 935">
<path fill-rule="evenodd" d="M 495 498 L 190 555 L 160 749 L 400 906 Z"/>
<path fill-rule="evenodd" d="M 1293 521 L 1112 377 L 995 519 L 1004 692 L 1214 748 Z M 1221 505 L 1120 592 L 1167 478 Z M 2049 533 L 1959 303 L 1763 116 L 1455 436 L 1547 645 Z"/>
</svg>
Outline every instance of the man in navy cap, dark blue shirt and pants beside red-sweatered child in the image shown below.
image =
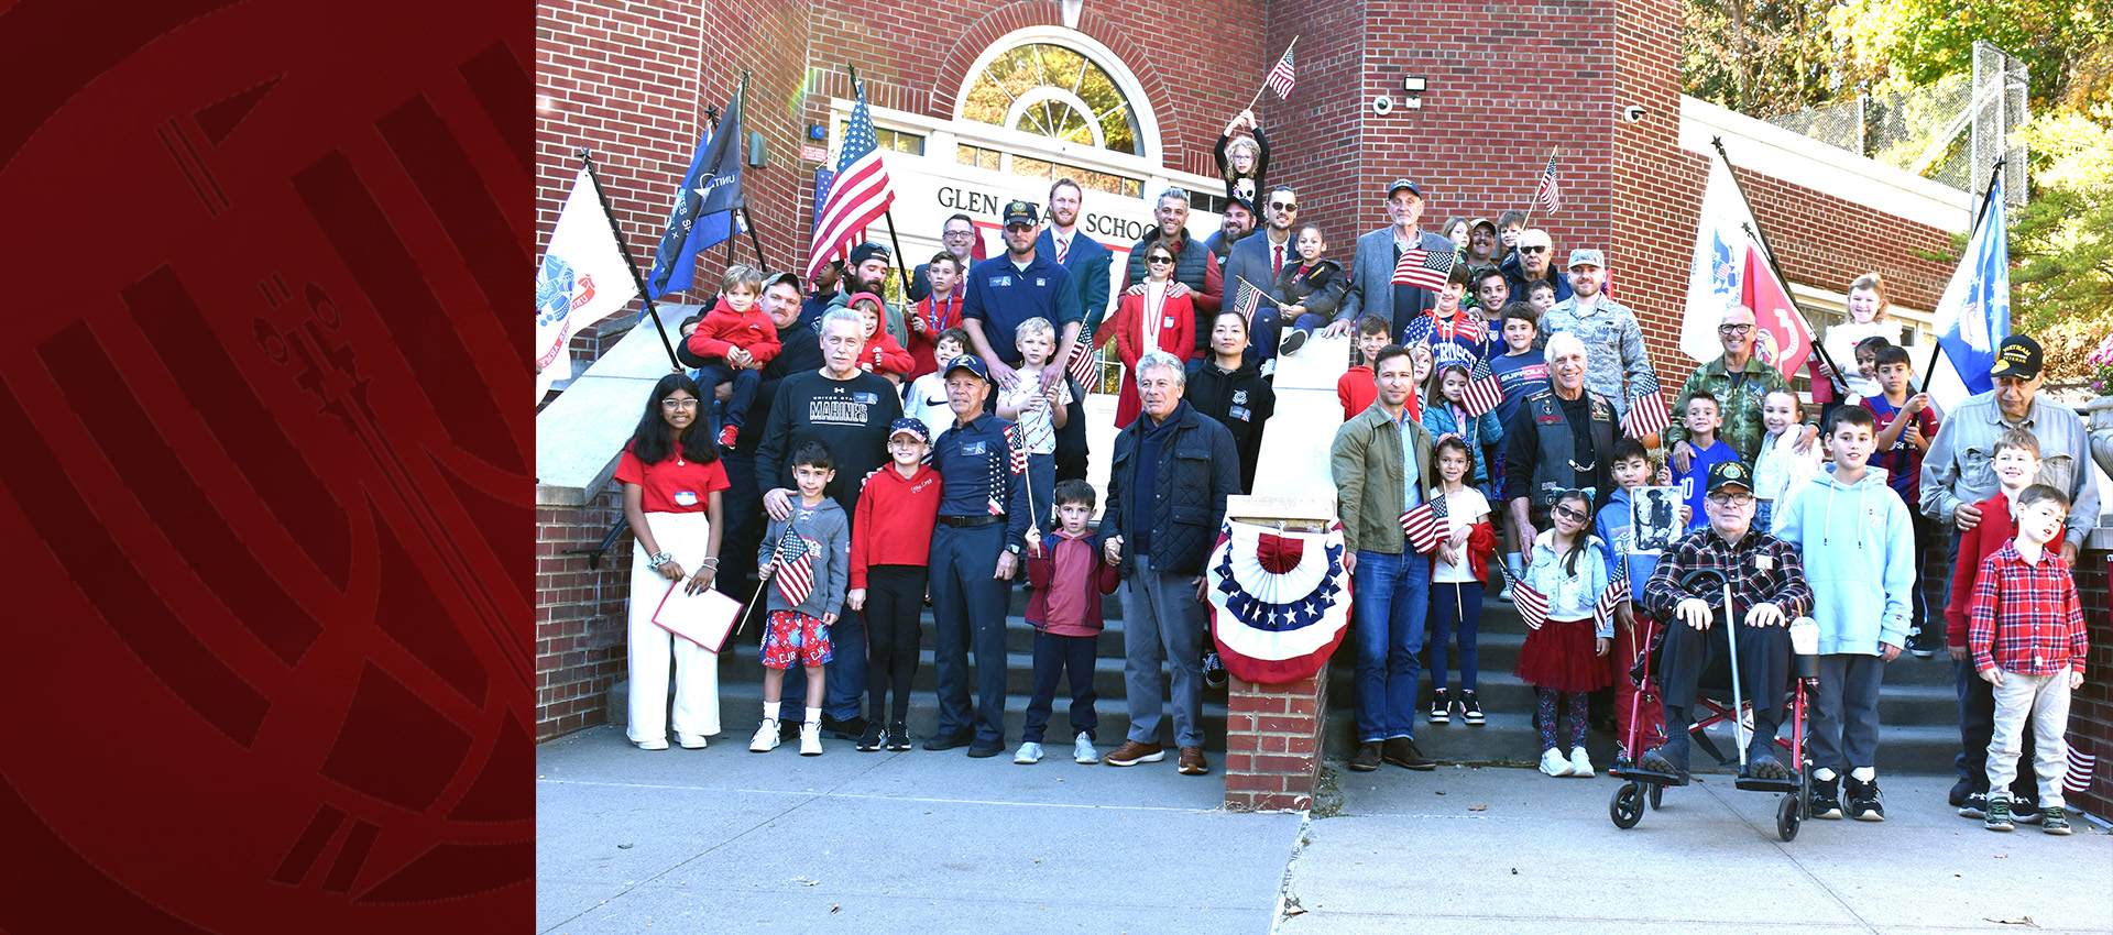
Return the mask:
<svg viewBox="0 0 2113 935">
<path fill-rule="evenodd" d="M 925 749 L 968 745 L 968 756 L 985 758 L 1006 749 L 1006 602 L 1027 545 L 1027 475 L 1012 473 L 1012 422 L 985 412 L 989 367 L 961 355 L 947 365 L 945 380 L 953 426 L 932 443 L 940 500 L 930 559 L 938 732 Z"/>
</svg>

